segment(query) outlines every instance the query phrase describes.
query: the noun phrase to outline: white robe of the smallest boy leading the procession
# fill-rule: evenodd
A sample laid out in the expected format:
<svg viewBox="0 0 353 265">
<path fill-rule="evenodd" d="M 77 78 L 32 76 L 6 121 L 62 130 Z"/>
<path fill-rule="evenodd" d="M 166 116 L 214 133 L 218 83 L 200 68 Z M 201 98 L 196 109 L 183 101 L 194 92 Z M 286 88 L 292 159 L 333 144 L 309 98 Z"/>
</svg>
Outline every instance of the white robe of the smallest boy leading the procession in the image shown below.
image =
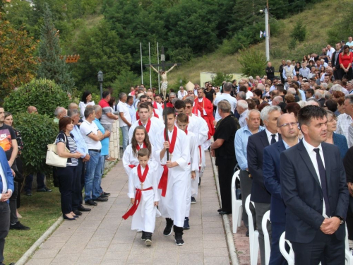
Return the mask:
<svg viewBox="0 0 353 265">
<path fill-rule="evenodd" d="M 140 204 L 136 212 L 132 216 L 131 220 L 131 230 L 142 230 L 145 232 L 155 231 L 155 218 L 156 215 L 159 216 L 160 213 L 157 207 L 154 206 L 155 201 L 160 200 L 160 196 L 157 192 L 158 182 L 157 182 L 157 167 L 158 164 L 155 161 L 148 162 L 148 173 L 143 182 L 143 189 L 152 187 L 153 189 L 148 191 L 143 191 Z M 143 174 L 145 169 L 141 167 L 141 173 Z M 131 170 L 128 176 L 128 197 L 135 198 L 136 189 L 141 189 L 141 182 L 138 178 L 137 167 Z"/>
</svg>

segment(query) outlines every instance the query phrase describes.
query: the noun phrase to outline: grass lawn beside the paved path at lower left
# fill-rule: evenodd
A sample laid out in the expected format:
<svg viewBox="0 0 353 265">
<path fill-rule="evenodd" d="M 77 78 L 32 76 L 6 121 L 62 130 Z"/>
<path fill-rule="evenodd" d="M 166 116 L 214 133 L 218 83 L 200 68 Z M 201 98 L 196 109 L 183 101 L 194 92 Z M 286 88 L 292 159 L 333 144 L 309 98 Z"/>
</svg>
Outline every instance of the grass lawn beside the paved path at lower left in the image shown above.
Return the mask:
<svg viewBox="0 0 353 265">
<path fill-rule="evenodd" d="M 19 213 L 23 216 L 20 223 L 29 226 L 30 230 L 10 230 L 6 237 L 5 264 L 16 262 L 40 238 L 44 232 L 56 222 L 61 215 L 60 192 L 47 183 L 53 192 L 33 192 L 32 196 L 21 194 Z"/>
</svg>

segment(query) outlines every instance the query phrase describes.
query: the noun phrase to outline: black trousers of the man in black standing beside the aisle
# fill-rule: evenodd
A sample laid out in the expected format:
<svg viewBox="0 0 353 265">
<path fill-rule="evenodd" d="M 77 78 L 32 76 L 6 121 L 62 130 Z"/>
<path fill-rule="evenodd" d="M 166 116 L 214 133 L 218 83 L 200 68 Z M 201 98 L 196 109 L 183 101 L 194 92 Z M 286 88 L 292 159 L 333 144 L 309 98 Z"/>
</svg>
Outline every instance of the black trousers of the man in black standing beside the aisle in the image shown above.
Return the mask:
<svg viewBox="0 0 353 265">
<path fill-rule="evenodd" d="M 232 211 L 232 177 L 237 159 L 217 158 L 218 179 L 220 181 L 220 193 L 222 199 L 222 210 Z"/>
</svg>

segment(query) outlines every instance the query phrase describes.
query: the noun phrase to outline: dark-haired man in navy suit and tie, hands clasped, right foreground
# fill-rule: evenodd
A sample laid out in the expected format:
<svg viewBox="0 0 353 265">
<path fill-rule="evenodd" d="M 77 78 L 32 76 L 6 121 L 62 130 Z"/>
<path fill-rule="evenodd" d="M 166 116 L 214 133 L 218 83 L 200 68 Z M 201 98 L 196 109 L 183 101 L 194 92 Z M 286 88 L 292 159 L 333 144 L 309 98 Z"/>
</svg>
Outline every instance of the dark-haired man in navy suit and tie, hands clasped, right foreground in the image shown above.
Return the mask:
<svg viewBox="0 0 353 265">
<path fill-rule="evenodd" d="M 280 157 L 285 232 L 295 264 L 345 264 L 349 193 L 340 151 L 324 142 L 326 115 L 321 107 L 303 107 L 298 122 L 304 139 Z"/>
</svg>

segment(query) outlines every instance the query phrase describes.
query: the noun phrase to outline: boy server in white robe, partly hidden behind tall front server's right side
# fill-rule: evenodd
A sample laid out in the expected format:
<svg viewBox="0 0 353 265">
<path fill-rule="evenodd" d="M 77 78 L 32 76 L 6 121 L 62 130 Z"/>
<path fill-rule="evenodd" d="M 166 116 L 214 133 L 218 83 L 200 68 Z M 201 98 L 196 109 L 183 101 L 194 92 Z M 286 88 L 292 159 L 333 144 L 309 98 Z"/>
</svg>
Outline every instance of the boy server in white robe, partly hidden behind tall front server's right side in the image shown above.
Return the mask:
<svg viewBox="0 0 353 265">
<path fill-rule="evenodd" d="M 186 213 L 184 220 L 184 229 L 190 229 L 189 216 L 190 216 L 190 206 L 191 206 L 191 179 L 196 179 L 196 172 L 198 172 L 198 141 L 197 137 L 193 132 L 188 131 L 189 116 L 181 113 L 177 116 L 177 126 L 179 129 L 185 132 L 189 139 L 190 144 L 190 162 L 189 167 L 189 178 L 188 178 L 188 189 L 186 193 Z"/>
</svg>

